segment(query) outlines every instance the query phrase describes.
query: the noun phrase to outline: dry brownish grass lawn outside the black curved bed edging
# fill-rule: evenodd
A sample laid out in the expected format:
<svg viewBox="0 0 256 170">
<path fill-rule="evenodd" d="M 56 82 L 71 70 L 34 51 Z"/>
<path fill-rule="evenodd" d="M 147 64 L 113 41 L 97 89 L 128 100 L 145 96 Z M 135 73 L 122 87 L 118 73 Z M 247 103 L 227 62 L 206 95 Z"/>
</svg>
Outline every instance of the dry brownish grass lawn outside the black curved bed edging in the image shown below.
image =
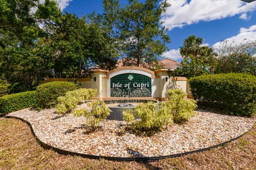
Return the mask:
<svg viewBox="0 0 256 170">
<path fill-rule="evenodd" d="M 26 123 L 0 118 L 0 169 L 256 169 L 256 124 L 244 137 L 224 147 L 137 163 L 60 155 L 43 149 Z"/>
</svg>

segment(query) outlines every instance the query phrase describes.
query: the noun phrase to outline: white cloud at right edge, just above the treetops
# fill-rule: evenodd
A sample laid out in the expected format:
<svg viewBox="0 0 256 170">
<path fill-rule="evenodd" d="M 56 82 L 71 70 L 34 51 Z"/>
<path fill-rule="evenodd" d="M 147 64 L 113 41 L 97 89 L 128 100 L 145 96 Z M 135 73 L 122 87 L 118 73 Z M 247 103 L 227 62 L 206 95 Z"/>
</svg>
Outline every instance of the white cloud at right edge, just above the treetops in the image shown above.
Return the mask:
<svg viewBox="0 0 256 170">
<path fill-rule="evenodd" d="M 249 28 L 240 28 L 238 35 L 227 38 L 223 41 L 215 43 L 213 48 L 218 49 L 222 43 L 226 41 L 227 44 L 241 44 L 251 41 L 256 41 L 256 25 L 252 25 Z"/>
</svg>

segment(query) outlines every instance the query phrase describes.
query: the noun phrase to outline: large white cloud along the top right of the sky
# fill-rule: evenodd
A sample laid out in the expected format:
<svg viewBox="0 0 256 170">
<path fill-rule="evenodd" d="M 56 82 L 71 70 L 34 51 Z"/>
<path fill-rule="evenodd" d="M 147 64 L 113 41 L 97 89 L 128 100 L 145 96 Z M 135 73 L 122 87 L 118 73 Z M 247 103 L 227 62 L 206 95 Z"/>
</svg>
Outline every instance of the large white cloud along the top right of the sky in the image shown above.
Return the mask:
<svg viewBox="0 0 256 170">
<path fill-rule="evenodd" d="M 248 19 L 247 13 L 256 10 L 256 2 L 245 3 L 240 0 L 168 0 L 171 4 L 162 15 L 164 25 L 173 29 L 199 21 L 223 19 L 241 14 Z"/>
</svg>

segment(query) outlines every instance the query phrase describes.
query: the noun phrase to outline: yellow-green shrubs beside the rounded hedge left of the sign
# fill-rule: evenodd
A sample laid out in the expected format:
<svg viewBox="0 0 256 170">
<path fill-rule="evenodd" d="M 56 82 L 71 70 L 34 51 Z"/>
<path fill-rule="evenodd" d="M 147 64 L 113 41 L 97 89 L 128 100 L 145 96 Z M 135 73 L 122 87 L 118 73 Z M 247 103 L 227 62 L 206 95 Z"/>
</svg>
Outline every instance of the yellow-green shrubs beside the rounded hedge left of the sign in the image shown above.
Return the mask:
<svg viewBox="0 0 256 170">
<path fill-rule="evenodd" d="M 94 89 L 77 89 L 68 91 L 65 96 L 58 97 L 58 104 L 55 106 L 58 114 L 64 114 L 74 109 L 82 100 L 88 100 L 96 94 Z"/>
</svg>

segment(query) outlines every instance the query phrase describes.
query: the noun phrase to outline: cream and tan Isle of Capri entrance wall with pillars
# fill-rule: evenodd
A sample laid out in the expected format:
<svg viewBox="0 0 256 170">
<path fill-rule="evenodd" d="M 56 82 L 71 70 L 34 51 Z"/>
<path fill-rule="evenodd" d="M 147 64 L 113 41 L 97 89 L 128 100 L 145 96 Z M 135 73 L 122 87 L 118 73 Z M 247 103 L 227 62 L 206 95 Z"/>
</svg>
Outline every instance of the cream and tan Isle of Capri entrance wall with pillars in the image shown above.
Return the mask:
<svg viewBox="0 0 256 170">
<path fill-rule="evenodd" d="M 117 69 L 94 70 L 93 77 L 77 79 L 79 87 L 97 89 L 94 98 L 108 100 L 113 98 L 166 99 L 169 89 L 180 88 L 189 94 L 185 77 L 166 79 L 167 69 L 151 71 L 143 67 L 124 66 Z M 52 78 L 43 81 L 74 81 L 72 79 Z"/>
</svg>

